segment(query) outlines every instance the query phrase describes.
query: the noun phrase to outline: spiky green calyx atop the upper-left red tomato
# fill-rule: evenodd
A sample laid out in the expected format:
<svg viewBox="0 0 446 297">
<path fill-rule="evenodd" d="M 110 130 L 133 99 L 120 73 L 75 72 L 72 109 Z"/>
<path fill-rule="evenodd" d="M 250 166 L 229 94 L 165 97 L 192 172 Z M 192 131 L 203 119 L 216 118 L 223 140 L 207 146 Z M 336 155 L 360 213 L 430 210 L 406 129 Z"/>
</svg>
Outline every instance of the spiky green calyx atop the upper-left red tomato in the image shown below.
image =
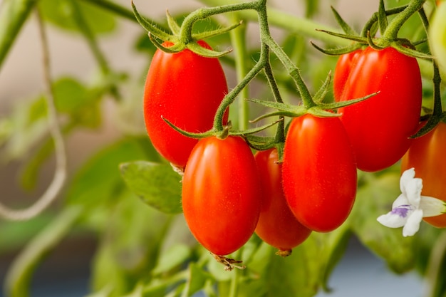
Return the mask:
<svg viewBox="0 0 446 297">
<path fill-rule="evenodd" d="M 155 26 L 155 24 L 152 24 L 152 22 L 145 19 L 144 16 L 141 16 L 141 14 L 136 9 L 135 4 L 133 4 L 133 1 L 132 1 L 132 9 L 133 9 L 133 14 L 135 14 L 135 19 L 142 26 L 142 28 L 144 28 L 145 31 L 147 31 L 150 41 L 157 48 L 159 48 L 161 51 L 164 51 L 165 53 L 179 53 L 180 51 L 183 51 L 187 48 L 199 56 L 204 56 L 207 58 L 222 57 L 224 55 L 227 55 L 227 53 L 230 53 L 232 49 L 229 48 L 227 51 L 214 51 L 209 48 L 203 48 L 197 43 L 197 41 L 227 33 L 228 31 L 231 31 L 232 29 L 237 28 L 242 24 L 242 21 L 240 21 L 237 24 L 232 24 L 227 27 L 194 34 L 192 33 L 192 26 L 197 20 L 193 19 L 192 14 L 190 15 L 192 16 L 192 21 L 185 20 L 182 26 L 180 26 L 177 23 L 177 21 L 172 17 L 172 15 L 170 15 L 169 11 L 166 11 L 167 24 L 171 31 L 169 33 L 165 30 L 162 30 L 161 28 L 158 28 L 157 26 Z M 169 47 L 163 46 L 162 43 L 157 41 L 157 39 L 163 42 L 169 41 L 173 45 Z"/>
</svg>

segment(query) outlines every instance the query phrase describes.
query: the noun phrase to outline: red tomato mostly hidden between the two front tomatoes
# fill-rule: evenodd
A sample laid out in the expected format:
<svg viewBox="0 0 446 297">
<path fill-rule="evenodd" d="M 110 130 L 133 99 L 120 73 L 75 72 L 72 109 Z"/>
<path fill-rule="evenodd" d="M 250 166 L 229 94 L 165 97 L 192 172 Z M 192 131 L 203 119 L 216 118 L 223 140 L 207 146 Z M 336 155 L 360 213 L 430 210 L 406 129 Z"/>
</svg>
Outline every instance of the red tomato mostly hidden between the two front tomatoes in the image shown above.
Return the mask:
<svg viewBox="0 0 446 297">
<path fill-rule="evenodd" d="M 257 152 L 254 158 L 261 182 L 261 211 L 256 234 L 284 256 L 311 234 L 289 209 L 282 188 L 282 166 L 277 150 Z"/>
</svg>

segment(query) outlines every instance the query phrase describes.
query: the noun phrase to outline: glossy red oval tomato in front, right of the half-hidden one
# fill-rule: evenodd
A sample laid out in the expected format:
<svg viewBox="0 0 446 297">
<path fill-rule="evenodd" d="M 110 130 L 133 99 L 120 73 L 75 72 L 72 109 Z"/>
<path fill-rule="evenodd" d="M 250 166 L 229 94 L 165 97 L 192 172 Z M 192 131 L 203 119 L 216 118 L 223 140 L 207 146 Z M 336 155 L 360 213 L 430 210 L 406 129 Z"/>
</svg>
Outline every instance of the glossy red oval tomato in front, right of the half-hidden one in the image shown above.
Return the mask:
<svg viewBox="0 0 446 297">
<path fill-rule="evenodd" d="M 304 115 L 291 121 L 284 147 L 283 183 L 294 216 L 328 232 L 347 219 L 356 197 L 356 162 L 339 118 Z"/>
</svg>

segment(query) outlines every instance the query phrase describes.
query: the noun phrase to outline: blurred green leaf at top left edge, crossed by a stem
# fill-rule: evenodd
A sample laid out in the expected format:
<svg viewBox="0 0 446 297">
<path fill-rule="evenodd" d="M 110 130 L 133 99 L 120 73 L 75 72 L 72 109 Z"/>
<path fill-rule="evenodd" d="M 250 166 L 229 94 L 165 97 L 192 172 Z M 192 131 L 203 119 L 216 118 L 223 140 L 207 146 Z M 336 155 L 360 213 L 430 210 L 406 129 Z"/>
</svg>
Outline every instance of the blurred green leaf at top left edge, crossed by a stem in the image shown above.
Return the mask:
<svg viewBox="0 0 446 297">
<path fill-rule="evenodd" d="M 51 24 L 68 31 L 78 31 L 78 25 L 73 18 L 73 0 L 40 0 L 38 5 L 44 19 Z M 77 1 L 77 0 L 74 0 Z M 116 28 L 113 14 L 108 14 L 98 6 L 78 1 L 79 9 L 87 26 L 95 33 L 111 33 Z"/>
</svg>

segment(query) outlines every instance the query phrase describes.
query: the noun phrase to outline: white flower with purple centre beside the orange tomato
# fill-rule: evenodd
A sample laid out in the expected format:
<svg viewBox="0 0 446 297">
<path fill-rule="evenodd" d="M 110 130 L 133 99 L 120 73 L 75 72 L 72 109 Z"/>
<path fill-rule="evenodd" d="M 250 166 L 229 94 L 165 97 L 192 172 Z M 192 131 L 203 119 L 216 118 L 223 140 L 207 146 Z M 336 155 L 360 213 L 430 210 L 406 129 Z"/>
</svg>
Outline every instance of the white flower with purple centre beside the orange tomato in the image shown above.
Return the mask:
<svg viewBox="0 0 446 297">
<path fill-rule="evenodd" d="M 446 212 L 440 199 L 421 196 L 422 179 L 415 178 L 415 169 L 403 172 L 400 178 L 401 194 L 393 202 L 388 214 L 378 217 L 378 222 L 390 228 L 403 227 L 403 236 L 413 236 L 420 229 L 423 217 L 435 217 Z"/>
</svg>

